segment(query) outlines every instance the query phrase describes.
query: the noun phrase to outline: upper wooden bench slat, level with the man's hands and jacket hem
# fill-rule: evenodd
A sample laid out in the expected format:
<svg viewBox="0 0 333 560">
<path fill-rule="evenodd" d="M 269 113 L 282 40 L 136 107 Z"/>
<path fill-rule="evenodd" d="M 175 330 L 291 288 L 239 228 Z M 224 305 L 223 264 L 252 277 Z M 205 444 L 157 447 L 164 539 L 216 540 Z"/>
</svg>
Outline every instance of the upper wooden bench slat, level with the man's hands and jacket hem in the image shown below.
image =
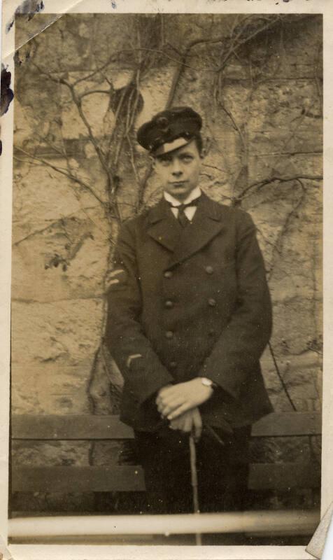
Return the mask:
<svg viewBox="0 0 333 560">
<path fill-rule="evenodd" d="M 320 435 L 318 412 L 272 412 L 253 426 L 253 436 L 274 437 Z M 15 440 L 116 440 L 132 439 L 132 428 L 118 416 L 81 415 L 13 415 Z"/>
</svg>

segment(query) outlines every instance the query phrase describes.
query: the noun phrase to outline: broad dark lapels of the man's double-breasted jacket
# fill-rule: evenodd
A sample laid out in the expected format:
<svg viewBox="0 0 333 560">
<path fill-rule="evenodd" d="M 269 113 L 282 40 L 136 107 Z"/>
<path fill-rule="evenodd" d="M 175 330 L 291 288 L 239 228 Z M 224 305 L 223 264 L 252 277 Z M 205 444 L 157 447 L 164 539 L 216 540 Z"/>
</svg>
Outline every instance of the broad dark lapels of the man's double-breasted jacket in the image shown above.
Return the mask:
<svg viewBox="0 0 333 560">
<path fill-rule="evenodd" d="M 150 222 L 148 234 L 173 253 L 169 262 L 171 267 L 200 251 L 218 235 L 225 227 L 221 218 L 222 207 L 218 207 L 213 200 L 202 193 L 192 225 L 183 229 L 163 198 L 148 214 Z"/>
</svg>

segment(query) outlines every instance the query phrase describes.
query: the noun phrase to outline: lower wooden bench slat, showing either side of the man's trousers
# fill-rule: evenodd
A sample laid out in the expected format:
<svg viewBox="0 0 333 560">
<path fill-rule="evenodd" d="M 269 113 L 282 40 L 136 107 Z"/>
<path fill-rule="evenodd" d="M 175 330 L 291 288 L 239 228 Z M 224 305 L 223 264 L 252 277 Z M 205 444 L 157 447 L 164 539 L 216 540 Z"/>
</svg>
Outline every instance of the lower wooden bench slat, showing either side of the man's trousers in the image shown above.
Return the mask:
<svg viewBox="0 0 333 560">
<path fill-rule="evenodd" d="M 13 491 L 103 492 L 144 491 L 141 466 L 13 467 Z M 285 491 L 293 487 L 316 488 L 320 472 L 312 463 L 253 463 L 249 488 Z"/>
</svg>

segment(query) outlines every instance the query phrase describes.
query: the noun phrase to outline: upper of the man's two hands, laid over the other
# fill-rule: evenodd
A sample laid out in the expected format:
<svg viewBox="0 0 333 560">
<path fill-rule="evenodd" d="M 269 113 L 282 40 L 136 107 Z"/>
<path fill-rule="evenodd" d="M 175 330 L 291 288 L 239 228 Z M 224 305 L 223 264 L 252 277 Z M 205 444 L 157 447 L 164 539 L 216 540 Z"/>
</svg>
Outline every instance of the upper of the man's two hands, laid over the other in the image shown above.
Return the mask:
<svg viewBox="0 0 333 560">
<path fill-rule="evenodd" d="M 185 383 L 168 385 L 160 389 L 156 398 L 157 409 L 168 420 L 173 420 L 192 408 L 202 405 L 213 394 L 213 389 L 196 377 Z"/>
</svg>

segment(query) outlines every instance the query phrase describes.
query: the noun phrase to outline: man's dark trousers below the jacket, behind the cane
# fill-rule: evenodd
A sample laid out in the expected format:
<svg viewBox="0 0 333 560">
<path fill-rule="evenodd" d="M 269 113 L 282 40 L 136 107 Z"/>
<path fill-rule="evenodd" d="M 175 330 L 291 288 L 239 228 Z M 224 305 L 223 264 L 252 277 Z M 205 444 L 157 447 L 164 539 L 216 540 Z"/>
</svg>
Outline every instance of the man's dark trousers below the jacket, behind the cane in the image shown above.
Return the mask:
<svg viewBox="0 0 333 560">
<path fill-rule="evenodd" d="M 235 428 L 232 435 L 214 430 L 224 445 L 205 429 L 196 444 L 200 511 L 243 510 L 251 426 Z M 192 513 L 189 436 L 166 427 L 156 433 L 135 432 L 135 439 L 145 474 L 148 512 Z"/>
</svg>

